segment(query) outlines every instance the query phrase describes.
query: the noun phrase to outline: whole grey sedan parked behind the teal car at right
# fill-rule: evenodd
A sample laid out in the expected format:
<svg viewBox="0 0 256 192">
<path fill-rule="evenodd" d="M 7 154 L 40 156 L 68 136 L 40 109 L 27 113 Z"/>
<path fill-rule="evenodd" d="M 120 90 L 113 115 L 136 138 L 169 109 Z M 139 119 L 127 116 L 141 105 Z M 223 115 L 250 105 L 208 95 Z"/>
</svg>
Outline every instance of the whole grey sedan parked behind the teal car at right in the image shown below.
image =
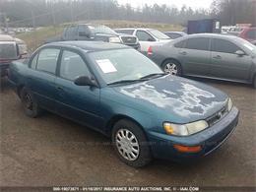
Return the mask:
<svg viewBox="0 0 256 192">
<path fill-rule="evenodd" d="M 232 35 L 191 34 L 163 46 L 149 57 L 166 73 L 252 84 L 256 87 L 256 47 Z"/>
</svg>

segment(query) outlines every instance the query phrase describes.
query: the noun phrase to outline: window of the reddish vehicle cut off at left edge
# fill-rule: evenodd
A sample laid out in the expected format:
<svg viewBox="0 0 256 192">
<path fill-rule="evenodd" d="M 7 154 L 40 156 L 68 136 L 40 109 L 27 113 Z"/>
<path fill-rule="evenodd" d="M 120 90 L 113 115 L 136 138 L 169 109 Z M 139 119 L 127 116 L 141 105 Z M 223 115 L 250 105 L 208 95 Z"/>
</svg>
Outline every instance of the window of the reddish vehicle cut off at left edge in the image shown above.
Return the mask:
<svg viewBox="0 0 256 192">
<path fill-rule="evenodd" d="M 17 49 L 15 42 L 0 42 L 0 59 L 17 58 Z"/>
</svg>

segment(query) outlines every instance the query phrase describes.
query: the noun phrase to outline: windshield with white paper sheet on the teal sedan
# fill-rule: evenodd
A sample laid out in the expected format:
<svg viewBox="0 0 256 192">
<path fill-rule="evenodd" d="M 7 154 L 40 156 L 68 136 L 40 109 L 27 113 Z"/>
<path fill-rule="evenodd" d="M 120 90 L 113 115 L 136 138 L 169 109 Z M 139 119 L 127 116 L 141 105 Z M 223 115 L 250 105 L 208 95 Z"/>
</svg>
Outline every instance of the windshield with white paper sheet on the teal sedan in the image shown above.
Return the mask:
<svg viewBox="0 0 256 192">
<path fill-rule="evenodd" d="M 140 81 L 163 72 L 149 58 L 134 49 L 115 49 L 89 53 L 106 84 Z"/>
</svg>

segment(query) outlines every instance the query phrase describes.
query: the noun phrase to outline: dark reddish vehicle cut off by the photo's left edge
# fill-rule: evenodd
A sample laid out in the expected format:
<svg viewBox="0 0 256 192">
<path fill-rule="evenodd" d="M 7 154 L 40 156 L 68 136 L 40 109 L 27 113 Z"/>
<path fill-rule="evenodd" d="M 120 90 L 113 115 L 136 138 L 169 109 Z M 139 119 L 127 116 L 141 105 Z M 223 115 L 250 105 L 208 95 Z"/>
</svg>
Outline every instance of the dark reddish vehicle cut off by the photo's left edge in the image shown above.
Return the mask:
<svg viewBox="0 0 256 192">
<path fill-rule="evenodd" d="M 7 75 L 7 69 L 12 61 L 24 57 L 27 53 L 27 45 L 23 40 L 0 34 L 1 77 Z"/>
</svg>

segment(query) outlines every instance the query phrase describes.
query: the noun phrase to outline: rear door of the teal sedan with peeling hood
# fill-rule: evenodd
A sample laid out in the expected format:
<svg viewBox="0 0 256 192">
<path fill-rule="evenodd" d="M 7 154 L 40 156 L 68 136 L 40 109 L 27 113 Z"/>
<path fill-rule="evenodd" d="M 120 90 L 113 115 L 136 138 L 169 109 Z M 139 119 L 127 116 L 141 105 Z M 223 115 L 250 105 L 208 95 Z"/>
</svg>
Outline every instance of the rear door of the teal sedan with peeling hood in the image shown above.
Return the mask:
<svg viewBox="0 0 256 192">
<path fill-rule="evenodd" d="M 43 48 L 32 59 L 28 85 L 40 106 L 55 111 L 56 66 L 60 49 Z"/>
</svg>

